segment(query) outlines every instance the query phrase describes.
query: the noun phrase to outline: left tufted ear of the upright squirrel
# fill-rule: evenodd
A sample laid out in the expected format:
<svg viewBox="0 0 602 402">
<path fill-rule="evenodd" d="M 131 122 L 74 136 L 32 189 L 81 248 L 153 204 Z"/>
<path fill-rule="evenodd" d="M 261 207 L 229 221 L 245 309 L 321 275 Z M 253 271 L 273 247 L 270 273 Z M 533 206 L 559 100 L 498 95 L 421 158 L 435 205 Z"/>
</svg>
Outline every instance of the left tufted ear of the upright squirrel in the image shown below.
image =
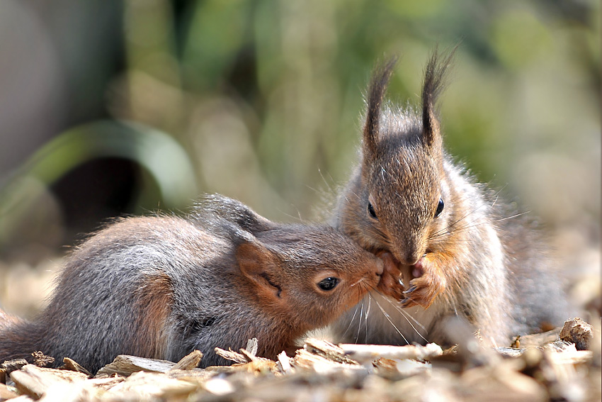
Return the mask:
<svg viewBox="0 0 602 402">
<path fill-rule="evenodd" d="M 363 152 L 370 157 L 376 152 L 380 124 L 380 107 L 385 97 L 387 85 L 397 65 L 397 56 L 384 63 L 379 63 L 372 73 L 368 95 L 366 96 L 366 119 L 363 130 Z M 371 159 L 371 158 L 370 158 Z"/>
</svg>

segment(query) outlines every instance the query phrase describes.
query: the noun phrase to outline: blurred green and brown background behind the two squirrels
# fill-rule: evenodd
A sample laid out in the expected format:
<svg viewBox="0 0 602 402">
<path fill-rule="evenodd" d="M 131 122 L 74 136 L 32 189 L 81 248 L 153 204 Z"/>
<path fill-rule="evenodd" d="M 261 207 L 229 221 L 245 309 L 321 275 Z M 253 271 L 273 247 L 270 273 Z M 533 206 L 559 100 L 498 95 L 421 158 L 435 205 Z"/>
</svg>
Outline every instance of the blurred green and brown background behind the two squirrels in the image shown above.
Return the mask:
<svg viewBox="0 0 602 402">
<path fill-rule="evenodd" d="M 3 0 L 0 272 L 202 192 L 327 216 L 375 62 L 401 55 L 389 96 L 413 105 L 431 50 L 461 43 L 450 152 L 597 273 L 600 21 L 596 0 Z"/>
</svg>

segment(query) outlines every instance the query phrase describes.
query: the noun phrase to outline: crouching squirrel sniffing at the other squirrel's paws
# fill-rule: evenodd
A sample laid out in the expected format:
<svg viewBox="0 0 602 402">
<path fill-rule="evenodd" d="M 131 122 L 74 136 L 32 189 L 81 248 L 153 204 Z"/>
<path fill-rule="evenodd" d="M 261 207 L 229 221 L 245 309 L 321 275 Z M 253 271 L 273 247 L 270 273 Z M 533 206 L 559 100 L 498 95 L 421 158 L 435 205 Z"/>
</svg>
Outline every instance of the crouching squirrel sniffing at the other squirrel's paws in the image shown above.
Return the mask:
<svg viewBox="0 0 602 402">
<path fill-rule="evenodd" d="M 275 359 L 375 289 L 385 261 L 329 225 L 273 223 L 219 195 L 185 217 L 120 218 L 72 252 L 37 319 L 0 312 L 0 362 L 41 350 L 96 372 L 117 354 L 200 350 L 206 367 L 251 337 Z"/>
</svg>

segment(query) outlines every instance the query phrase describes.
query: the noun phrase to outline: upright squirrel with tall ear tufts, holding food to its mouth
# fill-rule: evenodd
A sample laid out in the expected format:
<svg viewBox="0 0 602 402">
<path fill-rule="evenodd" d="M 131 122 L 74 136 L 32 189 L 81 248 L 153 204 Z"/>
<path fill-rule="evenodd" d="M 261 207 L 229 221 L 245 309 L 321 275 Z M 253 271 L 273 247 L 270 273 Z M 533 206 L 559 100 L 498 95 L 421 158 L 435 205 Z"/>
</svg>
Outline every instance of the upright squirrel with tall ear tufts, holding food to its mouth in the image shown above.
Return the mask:
<svg viewBox="0 0 602 402">
<path fill-rule="evenodd" d="M 384 102 L 397 57 L 373 72 L 360 162 L 331 224 L 366 250 L 392 256 L 402 297 L 370 292 L 382 314 L 358 323 L 358 305 L 332 326 L 335 340 L 450 345 L 446 318 L 460 317 L 487 344 L 505 345 L 568 318 L 567 296 L 533 222 L 477 184 L 443 147 L 436 104 L 454 52 L 432 53 L 419 111 Z"/>
</svg>

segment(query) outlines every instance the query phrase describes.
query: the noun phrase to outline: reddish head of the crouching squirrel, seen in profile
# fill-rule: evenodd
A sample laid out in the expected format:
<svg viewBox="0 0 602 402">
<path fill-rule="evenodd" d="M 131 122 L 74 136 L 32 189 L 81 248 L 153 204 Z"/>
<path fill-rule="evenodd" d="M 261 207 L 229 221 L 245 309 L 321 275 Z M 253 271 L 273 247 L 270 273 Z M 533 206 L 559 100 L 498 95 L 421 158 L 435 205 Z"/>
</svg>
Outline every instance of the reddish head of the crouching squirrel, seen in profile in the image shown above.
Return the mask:
<svg viewBox="0 0 602 402">
<path fill-rule="evenodd" d="M 383 271 L 382 259 L 327 226 L 283 225 L 257 237 L 246 233 L 236 258 L 262 311 L 304 330 L 355 306 Z"/>
</svg>

